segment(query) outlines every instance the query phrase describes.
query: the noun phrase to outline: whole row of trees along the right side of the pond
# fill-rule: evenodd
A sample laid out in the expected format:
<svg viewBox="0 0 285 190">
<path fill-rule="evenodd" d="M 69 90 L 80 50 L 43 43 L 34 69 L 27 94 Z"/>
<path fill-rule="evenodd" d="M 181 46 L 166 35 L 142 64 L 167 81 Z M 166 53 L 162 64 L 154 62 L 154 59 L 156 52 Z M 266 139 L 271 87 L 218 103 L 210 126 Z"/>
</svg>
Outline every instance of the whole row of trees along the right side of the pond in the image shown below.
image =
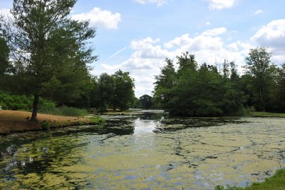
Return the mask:
<svg viewBox="0 0 285 190">
<path fill-rule="evenodd" d="M 239 75 L 234 62 L 221 68 L 198 66 L 195 56 L 177 56 L 155 76 L 154 97 L 162 109 L 177 116 L 233 116 L 247 110 L 285 112 L 285 64 L 272 64 L 266 47 L 251 49 Z"/>
</svg>

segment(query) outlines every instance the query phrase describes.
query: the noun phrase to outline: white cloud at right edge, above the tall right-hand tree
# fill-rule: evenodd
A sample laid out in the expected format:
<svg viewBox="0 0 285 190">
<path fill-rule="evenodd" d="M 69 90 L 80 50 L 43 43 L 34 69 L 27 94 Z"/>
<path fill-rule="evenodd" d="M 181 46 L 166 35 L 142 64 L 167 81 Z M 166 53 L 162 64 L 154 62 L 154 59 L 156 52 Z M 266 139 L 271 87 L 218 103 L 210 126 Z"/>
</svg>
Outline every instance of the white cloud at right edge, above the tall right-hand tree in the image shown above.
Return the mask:
<svg viewBox="0 0 285 190">
<path fill-rule="evenodd" d="M 274 20 L 262 26 L 252 36 L 252 41 L 258 46 L 268 46 L 276 64 L 285 63 L 285 19 Z"/>
</svg>

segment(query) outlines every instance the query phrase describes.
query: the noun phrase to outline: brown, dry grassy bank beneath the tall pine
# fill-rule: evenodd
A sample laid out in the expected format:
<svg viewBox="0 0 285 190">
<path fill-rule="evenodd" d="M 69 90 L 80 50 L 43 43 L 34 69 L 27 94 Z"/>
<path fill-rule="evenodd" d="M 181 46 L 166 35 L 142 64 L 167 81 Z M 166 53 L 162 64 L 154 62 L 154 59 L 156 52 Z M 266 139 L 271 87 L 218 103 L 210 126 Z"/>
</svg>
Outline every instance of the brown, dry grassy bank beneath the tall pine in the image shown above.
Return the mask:
<svg viewBox="0 0 285 190">
<path fill-rule="evenodd" d="M 27 111 L 0 111 L 0 134 L 11 134 L 23 131 L 40 131 L 64 126 L 78 126 L 87 124 L 103 124 L 99 117 L 73 117 L 38 114 L 38 122 L 29 121 L 31 113 Z"/>
</svg>

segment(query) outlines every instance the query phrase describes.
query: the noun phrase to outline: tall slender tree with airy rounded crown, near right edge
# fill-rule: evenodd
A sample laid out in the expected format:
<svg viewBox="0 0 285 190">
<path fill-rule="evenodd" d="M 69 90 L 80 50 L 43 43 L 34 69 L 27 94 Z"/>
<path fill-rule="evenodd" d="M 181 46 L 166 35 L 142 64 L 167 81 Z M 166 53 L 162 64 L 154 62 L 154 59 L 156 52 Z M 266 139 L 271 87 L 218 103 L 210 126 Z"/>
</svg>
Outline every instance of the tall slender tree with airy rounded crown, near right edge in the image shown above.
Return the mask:
<svg viewBox="0 0 285 190">
<path fill-rule="evenodd" d="M 247 74 L 253 77 L 253 86 L 256 91 L 256 102 L 254 106 L 259 111 L 265 111 L 266 102 L 269 101 L 270 86 L 273 82 L 276 68 L 271 64 L 271 53 L 266 47 L 257 47 L 249 51 L 246 58 Z"/>
</svg>

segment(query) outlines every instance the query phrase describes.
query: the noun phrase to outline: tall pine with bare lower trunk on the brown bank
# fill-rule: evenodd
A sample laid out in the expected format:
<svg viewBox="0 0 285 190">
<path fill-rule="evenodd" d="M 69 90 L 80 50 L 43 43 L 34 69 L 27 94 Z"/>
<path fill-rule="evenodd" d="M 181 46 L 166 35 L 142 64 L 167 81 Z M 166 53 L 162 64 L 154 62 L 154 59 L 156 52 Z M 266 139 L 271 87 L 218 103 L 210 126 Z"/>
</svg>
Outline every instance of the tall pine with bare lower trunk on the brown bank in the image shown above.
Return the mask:
<svg viewBox="0 0 285 190">
<path fill-rule="evenodd" d="M 14 0 L 14 18 L 1 19 L 16 84 L 21 84 L 20 91 L 33 94 L 31 121 L 36 121 L 40 96 L 64 99 L 68 92 L 76 99 L 81 79 L 87 79 L 86 64 L 96 59 L 87 42 L 95 36 L 95 28 L 68 17 L 74 4 L 76 0 Z"/>
</svg>

